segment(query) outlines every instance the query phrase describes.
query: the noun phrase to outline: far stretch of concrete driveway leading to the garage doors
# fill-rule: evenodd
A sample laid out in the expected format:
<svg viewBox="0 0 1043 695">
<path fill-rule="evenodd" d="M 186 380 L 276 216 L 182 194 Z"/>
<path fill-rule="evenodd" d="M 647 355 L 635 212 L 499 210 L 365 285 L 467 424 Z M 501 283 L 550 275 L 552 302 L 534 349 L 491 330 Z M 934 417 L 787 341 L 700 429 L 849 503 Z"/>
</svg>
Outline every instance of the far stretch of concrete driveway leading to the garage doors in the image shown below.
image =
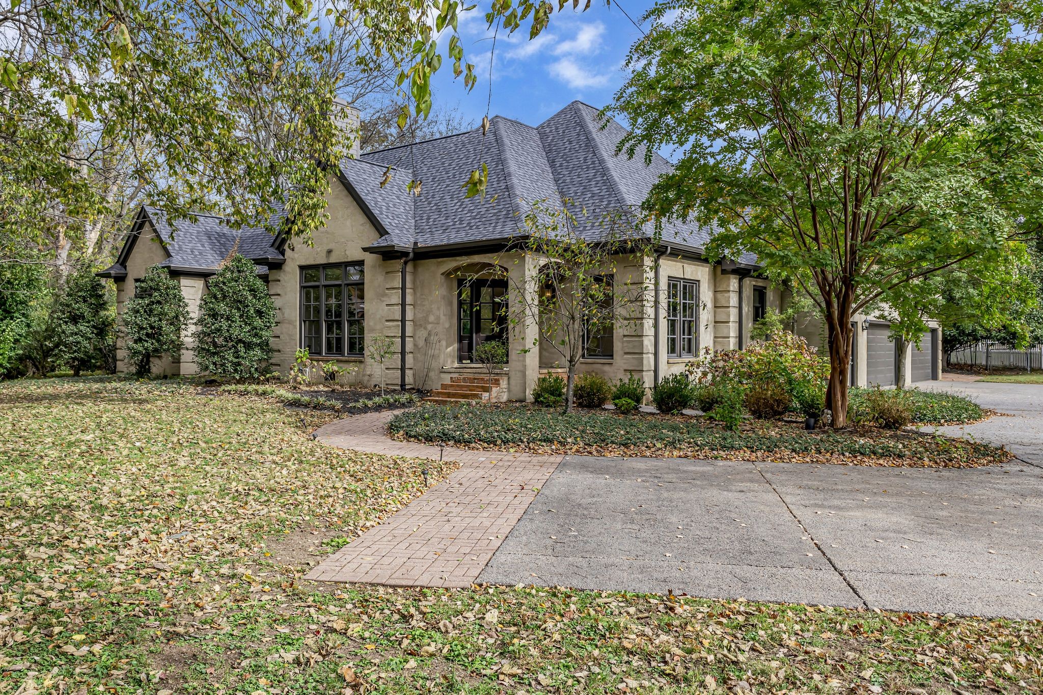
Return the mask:
<svg viewBox="0 0 1043 695">
<path fill-rule="evenodd" d="M 984 407 L 1006 414 L 975 425 L 940 427 L 941 431 L 951 437 L 966 435 L 983 442 L 1005 444 L 1025 463 L 1043 466 L 1043 386 L 988 381 L 921 381 L 915 386 L 969 396 Z"/>
</svg>

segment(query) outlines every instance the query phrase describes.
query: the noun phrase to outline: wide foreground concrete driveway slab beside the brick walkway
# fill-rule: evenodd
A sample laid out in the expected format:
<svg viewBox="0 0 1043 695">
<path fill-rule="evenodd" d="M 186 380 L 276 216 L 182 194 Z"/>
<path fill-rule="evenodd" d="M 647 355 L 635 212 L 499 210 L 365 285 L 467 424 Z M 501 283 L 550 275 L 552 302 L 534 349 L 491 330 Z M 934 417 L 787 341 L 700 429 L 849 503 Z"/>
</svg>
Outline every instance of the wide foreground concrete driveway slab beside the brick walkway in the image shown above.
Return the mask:
<svg viewBox="0 0 1043 695">
<path fill-rule="evenodd" d="M 568 456 L 479 581 L 1043 618 L 1043 469 Z"/>
</svg>

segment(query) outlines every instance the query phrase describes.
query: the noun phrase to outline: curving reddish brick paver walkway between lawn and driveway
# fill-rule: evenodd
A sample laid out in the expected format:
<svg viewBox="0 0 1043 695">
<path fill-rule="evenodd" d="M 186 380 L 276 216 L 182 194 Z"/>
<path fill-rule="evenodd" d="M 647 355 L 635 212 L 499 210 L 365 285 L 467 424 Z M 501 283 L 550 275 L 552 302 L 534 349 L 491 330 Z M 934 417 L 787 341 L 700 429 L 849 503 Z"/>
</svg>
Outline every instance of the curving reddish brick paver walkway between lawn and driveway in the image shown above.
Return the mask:
<svg viewBox="0 0 1043 695">
<path fill-rule="evenodd" d="M 386 435 L 392 412 L 359 415 L 316 430 L 344 449 L 437 460 L 438 447 Z M 385 523 L 351 541 L 306 579 L 412 587 L 469 587 L 522 518 L 561 456 L 445 447 L 460 468 Z"/>
</svg>

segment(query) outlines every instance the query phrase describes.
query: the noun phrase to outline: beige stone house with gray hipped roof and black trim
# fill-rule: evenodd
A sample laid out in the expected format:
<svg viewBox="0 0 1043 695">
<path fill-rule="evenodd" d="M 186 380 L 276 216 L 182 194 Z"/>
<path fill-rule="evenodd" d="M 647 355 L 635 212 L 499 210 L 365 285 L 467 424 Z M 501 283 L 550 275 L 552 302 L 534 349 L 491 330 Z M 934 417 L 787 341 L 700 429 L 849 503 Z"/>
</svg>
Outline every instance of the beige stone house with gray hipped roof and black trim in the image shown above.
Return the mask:
<svg viewBox="0 0 1043 695">
<path fill-rule="evenodd" d="M 394 339 L 396 352 L 384 364 L 386 382 L 432 389 L 483 373 L 471 363 L 472 347 L 502 339 L 510 363 L 500 397 L 524 400 L 540 372 L 557 365 L 545 348 L 524 349 L 537 341 L 535 325 L 508 326 L 493 311 L 509 295 L 505 273 L 518 287 L 538 271 L 534 258 L 510 250 L 526 232 L 519 213 L 535 201 L 562 198 L 591 213 L 636 209 L 671 165 L 656 153 L 651 166 L 640 153 L 616 156 L 625 132 L 614 121 L 602 124 L 598 109 L 574 101 L 538 126 L 495 117 L 486 133 L 476 128 L 354 153 L 333 176 L 329 223 L 314 232 L 311 246 L 264 229 L 233 230 L 204 216 L 179 221 L 175 231 L 143 207 L 117 263 L 101 274 L 116 281 L 122 312 L 136 278 L 159 263 L 178 278 L 194 316 L 205 278 L 238 244 L 275 302 L 275 370 L 286 373 L 295 351 L 307 348 L 312 359 L 355 367 L 361 380 L 374 383 L 380 367 L 366 358 L 365 348 L 368 338 L 384 334 Z M 465 199 L 461 182 L 480 163 L 488 166 L 486 195 Z M 392 180 L 382 187 L 388 171 Z M 407 192 L 410 180 L 421 181 L 420 195 Z M 592 224 L 580 231 L 597 233 Z M 590 341 L 581 371 L 610 379 L 634 373 L 655 383 L 704 347 L 743 347 L 754 321 L 787 301 L 784 289 L 758 277 L 754 257 L 710 263 L 703 251 L 707 242 L 707 231 L 695 223 L 666 226 L 654 257 L 627 269 L 658 289 L 657 305 L 650 300 L 637 320 Z M 817 339 L 814 327 L 804 332 Z M 886 371 L 874 371 L 882 364 L 881 346 L 878 331 L 868 332 L 872 339 L 856 342 L 857 383 Z M 156 370 L 195 373 L 191 339 L 187 345 L 179 362 L 156 363 Z M 118 365 L 127 369 L 122 351 Z"/>
</svg>

